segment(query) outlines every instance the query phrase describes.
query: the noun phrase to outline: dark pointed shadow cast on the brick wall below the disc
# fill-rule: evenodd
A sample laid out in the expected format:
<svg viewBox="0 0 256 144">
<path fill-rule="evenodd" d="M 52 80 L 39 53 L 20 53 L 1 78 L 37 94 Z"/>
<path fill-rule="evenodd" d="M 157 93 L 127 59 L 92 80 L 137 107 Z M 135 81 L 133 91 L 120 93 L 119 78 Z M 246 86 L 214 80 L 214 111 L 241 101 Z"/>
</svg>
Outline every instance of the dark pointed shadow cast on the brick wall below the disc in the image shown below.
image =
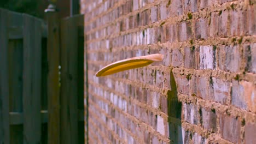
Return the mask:
<svg viewBox="0 0 256 144">
<path fill-rule="evenodd" d="M 170 73 L 170 85 L 171 91 L 167 93 L 169 139 L 171 140 L 170 143 L 183 143 L 181 127 L 182 104 L 178 101 L 177 86 L 172 71 Z"/>
</svg>

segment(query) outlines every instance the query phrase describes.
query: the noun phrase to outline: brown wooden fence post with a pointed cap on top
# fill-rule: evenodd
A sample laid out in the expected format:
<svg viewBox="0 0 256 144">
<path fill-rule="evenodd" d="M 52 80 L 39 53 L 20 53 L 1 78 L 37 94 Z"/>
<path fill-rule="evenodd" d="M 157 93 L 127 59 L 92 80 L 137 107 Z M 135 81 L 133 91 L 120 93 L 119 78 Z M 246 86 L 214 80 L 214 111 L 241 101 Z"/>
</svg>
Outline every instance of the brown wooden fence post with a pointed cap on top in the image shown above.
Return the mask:
<svg viewBox="0 0 256 144">
<path fill-rule="evenodd" d="M 60 21 L 54 5 L 49 5 L 48 15 L 48 143 L 60 143 Z"/>
</svg>

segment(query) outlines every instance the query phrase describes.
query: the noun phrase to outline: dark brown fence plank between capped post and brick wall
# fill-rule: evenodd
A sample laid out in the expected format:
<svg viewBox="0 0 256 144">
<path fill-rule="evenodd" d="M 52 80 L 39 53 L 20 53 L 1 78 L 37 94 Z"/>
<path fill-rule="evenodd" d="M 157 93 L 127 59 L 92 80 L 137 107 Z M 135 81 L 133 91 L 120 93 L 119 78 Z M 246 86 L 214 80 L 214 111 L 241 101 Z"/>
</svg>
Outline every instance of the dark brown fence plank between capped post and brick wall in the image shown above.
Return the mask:
<svg viewBox="0 0 256 144">
<path fill-rule="evenodd" d="M 78 143 L 78 31 L 75 19 L 61 21 L 61 143 Z"/>
</svg>

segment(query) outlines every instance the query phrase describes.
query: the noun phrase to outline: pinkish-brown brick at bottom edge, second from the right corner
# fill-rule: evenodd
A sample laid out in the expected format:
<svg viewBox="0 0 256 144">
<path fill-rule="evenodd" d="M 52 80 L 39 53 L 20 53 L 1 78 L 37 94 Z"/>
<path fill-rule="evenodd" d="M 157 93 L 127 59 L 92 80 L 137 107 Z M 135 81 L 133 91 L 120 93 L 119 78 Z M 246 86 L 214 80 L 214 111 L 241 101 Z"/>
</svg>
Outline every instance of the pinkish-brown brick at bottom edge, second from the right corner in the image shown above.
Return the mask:
<svg viewBox="0 0 256 144">
<path fill-rule="evenodd" d="M 240 119 L 221 115 L 219 119 L 220 134 L 225 140 L 229 140 L 234 143 L 240 143 Z"/>
</svg>

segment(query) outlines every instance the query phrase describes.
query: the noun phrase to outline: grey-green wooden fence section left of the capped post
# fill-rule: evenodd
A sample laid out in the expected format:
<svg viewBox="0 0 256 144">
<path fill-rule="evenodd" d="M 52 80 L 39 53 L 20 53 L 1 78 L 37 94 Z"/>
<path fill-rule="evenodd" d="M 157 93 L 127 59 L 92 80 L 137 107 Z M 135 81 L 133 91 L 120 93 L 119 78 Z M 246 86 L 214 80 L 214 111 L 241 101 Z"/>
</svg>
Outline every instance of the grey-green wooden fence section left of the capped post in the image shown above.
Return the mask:
<svg viewBox="0 0 256 144">
<path fill-rule="evenodd" d="M 45 139 L 48 111 L 42 56 L 46 30 L 40 19 L 0 9 L 0 143 Z"/>
</svg>

